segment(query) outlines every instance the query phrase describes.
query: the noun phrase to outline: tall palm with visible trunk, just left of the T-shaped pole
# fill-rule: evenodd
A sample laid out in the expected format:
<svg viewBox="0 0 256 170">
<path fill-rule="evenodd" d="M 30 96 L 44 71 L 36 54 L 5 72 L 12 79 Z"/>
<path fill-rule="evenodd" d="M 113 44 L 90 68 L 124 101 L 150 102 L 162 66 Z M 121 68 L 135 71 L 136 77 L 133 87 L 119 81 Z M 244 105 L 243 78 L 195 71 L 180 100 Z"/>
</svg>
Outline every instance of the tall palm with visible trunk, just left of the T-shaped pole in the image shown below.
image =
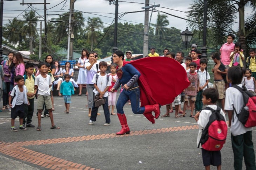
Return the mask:
<svg viewBox="0 0 256 170">
<path fill-rule="evenodd" d="M 22 29 L 25 35 L 29 37 L 29 51 L 30 51 L 30 54 L 32 54 L 33 39 L 35 35 L 37 35 L 36 26 L 37 26 L 38 18 L 37 16 L 35 16 L 35 12 L 32 10 L 30 12 L 25 12 L 23 17 L 25 18 L 25 22 Z"/>
</svg>

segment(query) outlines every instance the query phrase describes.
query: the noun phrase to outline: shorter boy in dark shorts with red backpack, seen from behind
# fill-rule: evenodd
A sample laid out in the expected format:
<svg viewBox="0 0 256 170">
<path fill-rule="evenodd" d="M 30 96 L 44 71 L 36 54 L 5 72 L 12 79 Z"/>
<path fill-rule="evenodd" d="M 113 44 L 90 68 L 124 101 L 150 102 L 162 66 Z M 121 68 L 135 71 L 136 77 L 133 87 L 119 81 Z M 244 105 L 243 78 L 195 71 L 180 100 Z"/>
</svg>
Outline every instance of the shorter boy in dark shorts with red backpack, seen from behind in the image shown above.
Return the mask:
<svg viewBox="0 0 256 170">
<path fill-rule="evenodd" d="M 221 169 L 221 148 L 227 137 L 228 126 L 225 113 L 220 107 L 217 107 L 218 92 L 215 88 L 207 88 L 203 91 L 203 104 L 208 105 L 201 112 L 197 112 L 195 120 L 197 121 L 199 132 L 197 135 L 197 146 L 202 149 L 203 165 L 206 170 L 210 165 Z M 214 125 L 217 129 L 214 129 Z M 216 136 L 211 136 L 211 132 Z M 207 136 L 207 137 L 206 137 Z"/>
</svg>

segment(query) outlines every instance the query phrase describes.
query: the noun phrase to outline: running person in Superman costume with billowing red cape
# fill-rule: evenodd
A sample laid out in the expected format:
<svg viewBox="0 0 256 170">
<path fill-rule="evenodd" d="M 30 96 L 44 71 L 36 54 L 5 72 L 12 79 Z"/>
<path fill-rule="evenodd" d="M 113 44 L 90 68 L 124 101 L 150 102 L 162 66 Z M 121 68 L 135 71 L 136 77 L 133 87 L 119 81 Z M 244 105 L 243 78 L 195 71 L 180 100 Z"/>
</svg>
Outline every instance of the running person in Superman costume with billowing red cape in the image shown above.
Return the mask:
<svg viewBox="0 0 256 170">
<path fill-rule="evenodd" d="M 130 133 L 123 112 L 123 106 L 128 100 L 131 101 L 133 113 L 143 114 L 155 123 L 154 118 L 159 118 L 161 105 L 173 102 L 190 84 L 184 68 L 171 58 L 149 57 L 126 62 L 123 52 L 116 50 L 113 53 L 113 62 L 117 64 L 119 79 L 110 91 L 114 92 L 121 84 L 123 86 L 116 103 L 117 116 L 122 126 L 117 135 Z M 151 113 L 153 111 L 155 116 Z"/>
</svg>

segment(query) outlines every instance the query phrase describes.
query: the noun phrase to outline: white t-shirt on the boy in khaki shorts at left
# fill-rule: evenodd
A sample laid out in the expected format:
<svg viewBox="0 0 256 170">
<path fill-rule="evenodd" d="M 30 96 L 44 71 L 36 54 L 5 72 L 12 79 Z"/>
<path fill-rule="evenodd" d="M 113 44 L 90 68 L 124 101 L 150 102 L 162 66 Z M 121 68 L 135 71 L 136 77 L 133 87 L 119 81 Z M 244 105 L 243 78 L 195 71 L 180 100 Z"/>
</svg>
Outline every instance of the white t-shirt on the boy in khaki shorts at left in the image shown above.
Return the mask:
<svg viewBox="0 0 256 170">
<path fill-rule="evenodd" d="M 35 78 L 35 85 L 38 86 L 38 94 L 40 95 L 50 95 L 50 88 L 49 85 L 52 85 L 52 81 L 50 76 L 47 74 L 46 78 L 43 78 L 40 75 L 38 75 Z"/>
</svg>

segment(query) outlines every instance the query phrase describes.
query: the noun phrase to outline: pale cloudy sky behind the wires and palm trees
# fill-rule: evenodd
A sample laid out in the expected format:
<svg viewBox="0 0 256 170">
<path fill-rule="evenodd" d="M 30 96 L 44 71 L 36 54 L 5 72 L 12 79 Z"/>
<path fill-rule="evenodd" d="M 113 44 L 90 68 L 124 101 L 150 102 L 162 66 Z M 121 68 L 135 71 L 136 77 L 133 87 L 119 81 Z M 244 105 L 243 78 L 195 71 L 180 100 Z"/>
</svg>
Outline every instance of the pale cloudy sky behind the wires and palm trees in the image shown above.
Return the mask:
<svg viewBox="0 0 256 170">
<path fill-rule="evenodd" d="M 22 6 L 20 5 L 22 1 L 24 3 L 44 2 L 44 0 L 4 0 L 4 24 L 8 23 L 8 20 L 12 20 L 14 17 L 22 19 L 22 14 L 25 13 L 25 10 L 35 10 L 40 17 L 39 20 L 44 21 L 43 5 Z M 52 17 L 58 17 L 58 14 L 69 12 L 70 0 L 47 0 L 46 2 L 50 3 L 47 5 L 47 20 L 50 20 Z M 145 6 L 144 3 L 145 0 L 119 0 L 119 15 L 127 12 L 144 10 L 141 9 L 141 7 Z M 186 18 L 188 6 L 193 2 L 192 0 L 150 0 L 149 3 L 150 5 L 160 5 L 160 7 L 156 7 L 155 10 Z M 74 9 L 83 12 L 83 16 L 86 20 L 88 17 L 100 17 L 104 27 L 108 27 L 115 16 L 115 5 L 109 5 L 109 0 L 76 0 Z M 247 17 L 250 12 L 248 9 L 245 9 L 245 11 L 247 12 L 245 17 Z M 149 13 L 149 16 L 150 15 L 151 12 Z M 157 13 L 153 12 L 151 23 L 156 23 L 156 17 Z M 168 20 L 170 23 L 169 27 L 176 27 L 182 31 L 187 27 L 186 20 L 178 17 L 168 15 Z M 144 23 L 144 12 L 125 14 L 118 20 L 118 22 L 129 22 L 133 24 Z"/>
</svg>

